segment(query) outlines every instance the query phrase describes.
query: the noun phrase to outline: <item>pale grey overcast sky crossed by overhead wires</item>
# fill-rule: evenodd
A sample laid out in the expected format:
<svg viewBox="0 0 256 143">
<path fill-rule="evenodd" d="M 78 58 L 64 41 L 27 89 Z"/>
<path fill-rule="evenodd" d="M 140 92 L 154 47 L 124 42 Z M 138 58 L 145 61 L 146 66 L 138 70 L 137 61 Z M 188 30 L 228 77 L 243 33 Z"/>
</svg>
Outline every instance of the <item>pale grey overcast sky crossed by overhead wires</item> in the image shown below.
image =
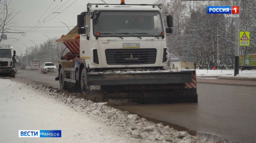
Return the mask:
<svg viewBox="0 0 256 143">
<path fill-rule="evenodd" d="M 121 0 L 104 0 L 104 1 L 109 4 L 110 3 L 120 4 Z M 154 1 L 156 0 L 125 0 L 125 3 L 126 4 L 153 4 Z M 103 3 L 103 2 L 100 0 L 62 0 L 62 1 L 61 0 L 55 0 L 55 1 L 54 0 L 11 0 L 9 8 L 13 8 L 16 11 L 20 11 L 20 12 L 14 18 L 14 21 L 16 21 L 15 22 L 16 26 L 11 27 L 11 29 L 17 30 L 17 31 L 9 31 L 9 32 L 28 31 L 29 29 L 31 29 L 29 27 L 35 26 L 36 24 L 39 23 L 39 21 L 40 22 L 43 21 L 43 22 L 39 23 L 36 26 L 36 27 L 41 26 L 40 28 L 38 28 L 37 30 L 36 28 L 34 28 L 35 31 L 31 30 L 26 34 L 26 36 L 22 36 L 22 34 L 6 33 L 7 38 L 18 38 L 21 41 L 17 40 L 16 42 L 15 40 L 15 42 L 13 42 L 14 39 L 6 39 L 2 41 L 1 44 L 10 44 L 16 51 L 20 51 L 19 49 L 15 48 L 15 47 L 19 47 L 22 50 L 22 54 L 25 54 L 26 47 L 21 43 L 24 43 L 29 48 L 30 46 L 34 46 L 34 43 L 29 40 L 32 40 L 39 45 L 40 43 L 48 39 L 45 35 L 47 35 L 49 38 L 61 37 L 61 35 L 66 35 L 67 32 L 69 32 L 69 30 L 66 27 L 66 25 L 64 25 L 63 23 L 60 23 L 59 21 L 64 22 L 68 26 L 75 26 L 77 24 L 77 15 L 86 10 L 87 3 Z M 47 8 L 49 9 L 46 11 Z M 55 11 L 56 12 L 63 11 L 63 12 L 61 12 L 59 15 L 58 13 L 52 14 Z M 46 13 L 44 14 L 44 12 Z M 50 16 L 46 18 L 48 15 Z M 47 21 L 47 22 L 44 23 L 44 21 Z M 71 30 L 73 27 L 69 27 L 69 28 Z M 17 52 L 17 54 L 20 55 L 19 52 Z"/>
</svg>

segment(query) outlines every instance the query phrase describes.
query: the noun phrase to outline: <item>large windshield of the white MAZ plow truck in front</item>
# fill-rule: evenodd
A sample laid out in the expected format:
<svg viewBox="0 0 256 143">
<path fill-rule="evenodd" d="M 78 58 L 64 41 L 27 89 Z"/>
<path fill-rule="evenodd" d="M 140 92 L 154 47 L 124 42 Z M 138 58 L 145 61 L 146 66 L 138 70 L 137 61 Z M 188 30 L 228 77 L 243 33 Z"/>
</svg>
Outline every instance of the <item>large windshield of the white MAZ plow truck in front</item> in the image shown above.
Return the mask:
<svg viewBox="0 0 256 143">
<path fill-rule="evenodd" d="M 93 20 L 93 28 L 94 34 L 105 33 L 107 37 L 162 36 L 164 31 L 158 11 L 101 11 L 99 17 Z"/>
</svg>

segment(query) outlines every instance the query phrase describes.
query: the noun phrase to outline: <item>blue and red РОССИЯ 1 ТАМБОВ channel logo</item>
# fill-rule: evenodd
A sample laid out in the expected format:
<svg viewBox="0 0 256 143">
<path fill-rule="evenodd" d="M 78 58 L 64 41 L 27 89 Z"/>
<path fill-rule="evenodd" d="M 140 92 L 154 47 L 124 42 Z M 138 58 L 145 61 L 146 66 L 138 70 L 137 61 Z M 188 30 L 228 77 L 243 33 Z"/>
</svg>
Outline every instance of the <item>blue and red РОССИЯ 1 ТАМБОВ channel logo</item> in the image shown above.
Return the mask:
<svg viewBox="0 0 256 143">
<path fill-rule="evenodd" d="M 207 6 L 208 14 L 224 14 L 225 17 L 239 17 L 239 6 Z"/>
</svg>

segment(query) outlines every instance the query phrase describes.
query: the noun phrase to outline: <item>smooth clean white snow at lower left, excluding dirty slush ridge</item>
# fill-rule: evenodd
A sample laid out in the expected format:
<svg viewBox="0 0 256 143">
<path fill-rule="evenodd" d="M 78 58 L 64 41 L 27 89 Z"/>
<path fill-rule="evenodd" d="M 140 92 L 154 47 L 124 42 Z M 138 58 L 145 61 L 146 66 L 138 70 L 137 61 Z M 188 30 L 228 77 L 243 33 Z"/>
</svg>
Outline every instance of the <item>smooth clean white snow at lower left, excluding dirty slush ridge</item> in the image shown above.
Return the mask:
<svg viewBox="0 0 256 143">
<path fill-rule="evenodd" d="M 9 79 L 0 79 L 0 142 L 134 142 L 83 112 Z M 18 130 L 61 130 L 61 138 L 19 138 Z"/>
</svg>

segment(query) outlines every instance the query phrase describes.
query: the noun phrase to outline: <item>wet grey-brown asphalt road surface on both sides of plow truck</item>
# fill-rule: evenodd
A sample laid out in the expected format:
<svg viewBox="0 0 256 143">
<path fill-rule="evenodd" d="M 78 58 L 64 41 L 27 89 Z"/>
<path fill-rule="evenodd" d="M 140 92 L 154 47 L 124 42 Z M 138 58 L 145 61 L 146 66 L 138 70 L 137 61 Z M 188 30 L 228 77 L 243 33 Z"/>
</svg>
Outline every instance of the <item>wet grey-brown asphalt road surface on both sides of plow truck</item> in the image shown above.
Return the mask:
<svg viewBox="0 0 256 143">
<path fill-rule="evenodd" d="M 16 77 L 59 88 L 59 82 L 55 81 L 57 73 L 41 74 L 40 71 L 19 70 Z M 241 82 L 200 80 L 213 83 L 219 81 L 222 84 Z M 255 81 L 250 81 L 250 85 L 251 83 L 254 84 Z M 197 92 L 198 104 L 136 104 L 116 108 L 150 118 L 155 122 L 178 125 L 232 142 L 256 142 L 256 87 L 200 83 L 197 84 Z"/>
</svg>

